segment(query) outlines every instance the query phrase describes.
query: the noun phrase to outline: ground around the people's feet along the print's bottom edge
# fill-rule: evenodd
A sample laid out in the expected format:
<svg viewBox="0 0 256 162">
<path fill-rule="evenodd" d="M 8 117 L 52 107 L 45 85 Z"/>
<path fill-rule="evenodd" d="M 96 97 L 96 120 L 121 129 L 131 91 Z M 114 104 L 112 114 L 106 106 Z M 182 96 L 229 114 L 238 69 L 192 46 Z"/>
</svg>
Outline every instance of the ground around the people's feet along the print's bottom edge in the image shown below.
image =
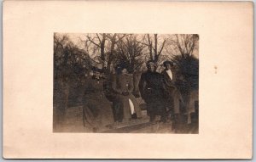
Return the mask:
<svg viewBox="0 0 256 162">
<path fill-rule="evenodd" d="M 146 111 L 146 110 L 143 110 Z M 83 123 L 83 109 L 81 106 L 68 108 L 66 114 L 63 116 L 61 123 L 54 126 L 54 132 L 93 132 L 90 126 L 84 126 Z M 104 130 L 97 131 L 102 133 L 198 133 L 198 120 L 196 117 L 192 118 L 192 123 L 187 124 L 185 118 L 181 121 L 181 124 L 174 130 L 172 126 L 172 120 L 167 120 L 166 123 L 159 121 L 150 123 L 149 118 L 145 112 L 143 112 L 142 119 L 130 120 L 122 123 L 114 123 L 110 127 L 106 127 Z M 159 116 L 156 120 L 159 120 Z"/>
</svg>

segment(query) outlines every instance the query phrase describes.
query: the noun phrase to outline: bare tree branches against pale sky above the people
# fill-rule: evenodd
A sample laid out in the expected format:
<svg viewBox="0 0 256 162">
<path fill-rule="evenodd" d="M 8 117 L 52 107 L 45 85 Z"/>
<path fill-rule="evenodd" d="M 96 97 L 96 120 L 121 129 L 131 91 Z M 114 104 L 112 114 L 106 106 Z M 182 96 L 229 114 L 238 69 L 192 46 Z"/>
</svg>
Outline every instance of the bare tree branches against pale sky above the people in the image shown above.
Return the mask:
<svg viewBox="0 0 256 162">
<path fill-rule="evenodd" d="M 181 55 L 183 58 L 191 56 L 198 47 L 198 35 L 158 35 L 158 34 L 118 34 L 95 33 L 79 35 L 75 44 L 65 35 L 54 36 L 54 49 L 62 48 L 70 51 L 68 57 L 73 57 L 74 48 L 83 49 L 92 64 L 101 63 L 110 70 L 113 64 L 123 62 L 131 70 L 135 70 L 148 59 L 159 64 L 164 59 Z M 79 42 L 79 43 L 77 43 Z M 55 54 L 58 56 L 58 53 Z M 67 60 L 67 57 L 66 57 Z M 81 59 L 85 61 L 85 59 Z"/>
</svg>

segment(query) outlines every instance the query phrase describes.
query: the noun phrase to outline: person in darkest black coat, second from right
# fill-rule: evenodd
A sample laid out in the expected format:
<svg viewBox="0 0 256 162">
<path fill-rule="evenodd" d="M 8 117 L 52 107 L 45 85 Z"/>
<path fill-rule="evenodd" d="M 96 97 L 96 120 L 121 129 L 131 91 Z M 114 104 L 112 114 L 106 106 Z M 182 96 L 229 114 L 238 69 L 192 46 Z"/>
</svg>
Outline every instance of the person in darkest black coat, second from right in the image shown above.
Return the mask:
<svg viewBox="0 0 256 162">
<path fill-rule="evenodd" d="M 147 114 L 154 122 L 155 116 L 160 115 L 160 121 L 166 122 L 166 107 L 164 104 L 164 84 L 160 73 L 156 72 L 154 61 L 147 62 L 147 72 L 143 73 L 139 82 L 141 96 L 147 103 Z"/>
</svg>

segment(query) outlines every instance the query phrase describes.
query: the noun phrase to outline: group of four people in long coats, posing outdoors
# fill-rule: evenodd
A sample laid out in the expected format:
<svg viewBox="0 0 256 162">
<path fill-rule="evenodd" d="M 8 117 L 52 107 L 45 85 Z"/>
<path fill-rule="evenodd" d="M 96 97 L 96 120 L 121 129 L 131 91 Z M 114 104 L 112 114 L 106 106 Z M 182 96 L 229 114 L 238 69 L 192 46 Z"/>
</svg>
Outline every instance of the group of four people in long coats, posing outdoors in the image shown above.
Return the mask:
<svg viewBox="0 0 256 162">
<path fill-rule="evenodd" d="M 165 123 L 171 111 L 173 120 L 177 121 L 180 104 L 184 104 L 176 87 L 173 63 L 166 61 L 164 66 L 166 69 L 158 73 L 154 61 L 149 60 L 148 70 L 141 75 L 138 84 L 150 122 L 156 122 L 156 115 L 160 115 L 160 122 Z M 115 68 L 115 74 L 108 81 L 102 77 L 102 70 L 95 68 L 84 87 L 84 126 L 101 131 L 114 123 L 142 118 L 142 110 L 132 93 L 133 82 L 133 77 L 122 64 Z"/>
</svg>

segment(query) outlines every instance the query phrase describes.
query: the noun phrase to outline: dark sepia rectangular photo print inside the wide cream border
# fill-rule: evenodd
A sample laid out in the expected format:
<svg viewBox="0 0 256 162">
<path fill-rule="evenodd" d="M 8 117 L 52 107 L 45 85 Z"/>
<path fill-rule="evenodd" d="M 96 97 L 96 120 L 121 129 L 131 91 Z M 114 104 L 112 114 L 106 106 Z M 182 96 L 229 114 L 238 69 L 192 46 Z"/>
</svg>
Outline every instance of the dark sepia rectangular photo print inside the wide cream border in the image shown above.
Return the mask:
<svg viewBox="0 0 256 162">
<path fill-rule="evenodd" d="M 55 32 L 53 131 L 198 134 L 199 39 Z"/>
</svg>

